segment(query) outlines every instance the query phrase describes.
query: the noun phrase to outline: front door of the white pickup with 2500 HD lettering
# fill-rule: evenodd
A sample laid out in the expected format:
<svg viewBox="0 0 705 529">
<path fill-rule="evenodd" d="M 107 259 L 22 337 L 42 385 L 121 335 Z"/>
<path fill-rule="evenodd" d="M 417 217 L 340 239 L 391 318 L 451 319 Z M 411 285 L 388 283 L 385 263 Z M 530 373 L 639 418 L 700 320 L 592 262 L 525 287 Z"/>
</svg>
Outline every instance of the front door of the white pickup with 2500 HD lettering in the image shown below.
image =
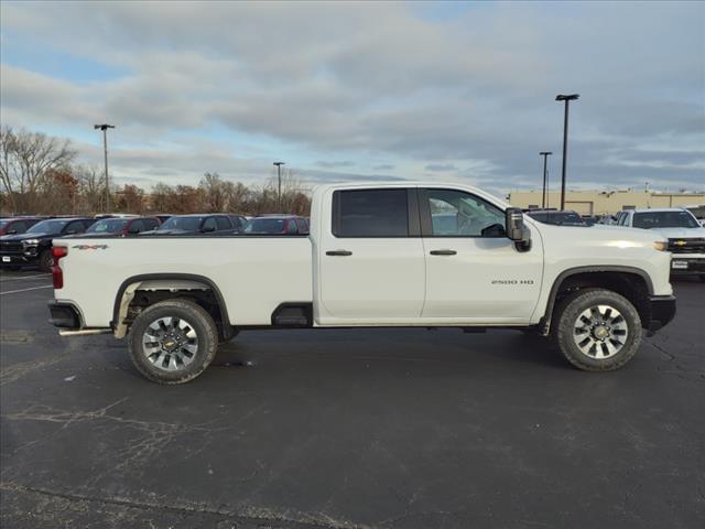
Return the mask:
<svg viewBox="0 0 705 529">
<path fill-rule="evenodd" d="M 505 236 L 505 212 L 465 191 L 419 191 L 426 260 L 422 316 L 466 323 L 529 322 L 539 299 L 543 249 Z"/>
</svg>

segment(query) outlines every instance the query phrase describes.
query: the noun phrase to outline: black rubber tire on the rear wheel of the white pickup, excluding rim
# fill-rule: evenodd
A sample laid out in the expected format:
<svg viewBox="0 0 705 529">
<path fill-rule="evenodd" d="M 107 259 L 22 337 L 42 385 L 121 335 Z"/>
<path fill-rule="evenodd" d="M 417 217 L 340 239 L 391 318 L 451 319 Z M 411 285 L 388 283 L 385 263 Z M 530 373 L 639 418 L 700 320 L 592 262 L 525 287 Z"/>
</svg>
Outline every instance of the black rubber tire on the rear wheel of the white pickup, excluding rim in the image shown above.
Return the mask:
<svg viewBox="0 0 705 529">
<path fill-rule="evenodd" d="M 186 328 L 195 332 L 197 346 L 194 356 L 188 359 L 189 364 L 182 364 L 181 367 L 174 367 L 174 370 L 165 370 L 150 359 L 154 355 L 148 356 L 148 346 L 143 344 L 145 332 L 150 324 L 161 319 L 187 322 Z M 128 334 L 128 349 L 137 370 L 149 380 L 159 384 L 184 384 L 200 375 L 213 361 L 218 349 L 218 328 L 210 314 L 197 303 L 183 299 L 165 300 L 145 309 L 134 319 Z M 154 354 L 160 355 L 162 350 L 159 349 Z M 171 355 L 164 355 L 166 365 L 171 366 Z M 174 359 L 174 365 L 176 364 Z"/>
</svg>

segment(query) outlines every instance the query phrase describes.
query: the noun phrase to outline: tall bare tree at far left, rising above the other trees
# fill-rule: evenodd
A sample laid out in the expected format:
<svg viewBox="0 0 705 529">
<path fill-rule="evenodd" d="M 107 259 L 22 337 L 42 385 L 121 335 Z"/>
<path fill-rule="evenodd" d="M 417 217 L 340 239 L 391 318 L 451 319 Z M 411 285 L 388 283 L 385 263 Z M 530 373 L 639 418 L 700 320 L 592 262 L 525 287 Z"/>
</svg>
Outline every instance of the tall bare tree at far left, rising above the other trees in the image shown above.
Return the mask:
<svg viewBox="0 0 705 529">
<path fill-rule="evenodd" d="M 12 210 L 32 210 L 53 171 L 66 170 L 76 158 L 70 141 L 41 132 L 0 127 L 0 182 Z"/>
</svg>

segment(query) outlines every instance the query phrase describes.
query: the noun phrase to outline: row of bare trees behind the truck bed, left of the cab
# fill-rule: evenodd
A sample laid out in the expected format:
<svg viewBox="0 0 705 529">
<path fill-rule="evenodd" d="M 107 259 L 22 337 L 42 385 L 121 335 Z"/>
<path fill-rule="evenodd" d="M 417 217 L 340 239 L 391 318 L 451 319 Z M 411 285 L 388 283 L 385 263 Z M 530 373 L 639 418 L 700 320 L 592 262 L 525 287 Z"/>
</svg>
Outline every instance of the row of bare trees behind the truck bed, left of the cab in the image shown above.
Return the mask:
<svg viewBox="0 0 705 529">
<path fill-rule="evenodd" d="M 106 210 L 102 168 L 75 163 L 70 140 L 0 127 L 0 213 L 4 215 L 89 215 Z M 120 213 L 212 213 L 308 215 L 311 199 L 291 171 L 247 186 L 206 172 L 198 185 L 159 183 L 150 191 L 111 185 L 110 210 Z"/>
</svg>

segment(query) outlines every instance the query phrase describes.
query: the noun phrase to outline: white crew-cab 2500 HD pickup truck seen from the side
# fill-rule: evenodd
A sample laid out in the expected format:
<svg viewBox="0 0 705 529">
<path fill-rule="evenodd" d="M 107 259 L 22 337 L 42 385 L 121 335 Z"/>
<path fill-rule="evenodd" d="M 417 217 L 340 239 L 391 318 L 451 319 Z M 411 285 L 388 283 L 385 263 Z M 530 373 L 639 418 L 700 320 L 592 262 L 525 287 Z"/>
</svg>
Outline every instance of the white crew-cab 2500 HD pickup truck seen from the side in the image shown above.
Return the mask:
<svg viewBox="0 0 705 529">
<path fill-rule="evenodd" d="M 56 239 L 50 321 L 127 336 L 162 384 L 278 327 L 512 327 L 608 370 L 675 314 L 666 250 L 646 230 L 540 224 L 460 184 L 324 185 L 308 236 Z"/>
</svg>

